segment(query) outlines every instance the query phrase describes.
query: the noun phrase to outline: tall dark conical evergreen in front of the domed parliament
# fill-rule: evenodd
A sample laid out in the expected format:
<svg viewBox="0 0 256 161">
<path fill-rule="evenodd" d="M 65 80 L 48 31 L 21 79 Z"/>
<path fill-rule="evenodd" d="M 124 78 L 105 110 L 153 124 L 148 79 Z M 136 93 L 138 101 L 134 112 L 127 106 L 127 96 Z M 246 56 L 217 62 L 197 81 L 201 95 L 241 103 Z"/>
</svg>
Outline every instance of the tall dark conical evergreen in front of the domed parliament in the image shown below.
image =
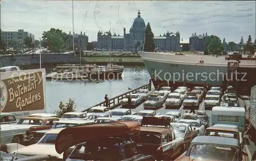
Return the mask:
<svg viewBox="0 0 256 161">
<path fill-rule="evenodd" d="M 154 43 L 154 34 L 150 27 L 150 22 L 146 25 L 146 31 L 145 31 L 145 43 L 144 44 L 144 51 L 145 52 L 154 52 L 155 50 L 155 43 Z M 143 45 L 142 45 L 143 49 Z"/>
</svg>

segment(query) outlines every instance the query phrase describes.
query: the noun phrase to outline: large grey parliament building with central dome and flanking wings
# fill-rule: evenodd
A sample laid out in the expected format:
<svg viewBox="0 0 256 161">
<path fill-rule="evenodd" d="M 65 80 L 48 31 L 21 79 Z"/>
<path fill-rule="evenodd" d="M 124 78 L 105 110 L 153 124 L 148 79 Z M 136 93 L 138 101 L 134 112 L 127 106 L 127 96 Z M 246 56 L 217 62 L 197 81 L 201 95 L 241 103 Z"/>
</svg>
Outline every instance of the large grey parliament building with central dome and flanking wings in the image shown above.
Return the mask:
<svg viewBox="0 0 256 161">
<path fill-rule="evenodd" d="M 127 50 L 127 51 L 142 51 L 143 40 L 145 37 L 145 21 L 140 16 L 134 19 L 133 25 L 130 28 L 130 33 L 126 33 L 126 29 L 123 29 L 123 36 L 111 31 L 102 33 L 101 31 L 97 34 L 97 48 L 105 50 Z M 163 36 L 154 37 L 155 48 L 158 50 L 165 51 L 179 51 L 180 50 L 180 33 L 168 32 Z"/>
</svg>

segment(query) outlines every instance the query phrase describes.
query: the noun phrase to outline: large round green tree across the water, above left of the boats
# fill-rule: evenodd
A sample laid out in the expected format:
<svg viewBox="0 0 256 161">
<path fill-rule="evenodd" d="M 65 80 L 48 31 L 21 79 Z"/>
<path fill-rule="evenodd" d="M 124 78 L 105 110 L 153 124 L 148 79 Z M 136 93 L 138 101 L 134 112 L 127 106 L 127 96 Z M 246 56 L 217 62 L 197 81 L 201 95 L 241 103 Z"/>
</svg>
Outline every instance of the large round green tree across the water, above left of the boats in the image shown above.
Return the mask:
<svg viewBox="0 0 256 161">
<path fill-rule="evenodd" d="M 62 30 L 51 28 L 42 33 L 43 46 L 52 52 L 59 53 L 61 50 L 68 50 L 68 34 Z"/>
</svg>

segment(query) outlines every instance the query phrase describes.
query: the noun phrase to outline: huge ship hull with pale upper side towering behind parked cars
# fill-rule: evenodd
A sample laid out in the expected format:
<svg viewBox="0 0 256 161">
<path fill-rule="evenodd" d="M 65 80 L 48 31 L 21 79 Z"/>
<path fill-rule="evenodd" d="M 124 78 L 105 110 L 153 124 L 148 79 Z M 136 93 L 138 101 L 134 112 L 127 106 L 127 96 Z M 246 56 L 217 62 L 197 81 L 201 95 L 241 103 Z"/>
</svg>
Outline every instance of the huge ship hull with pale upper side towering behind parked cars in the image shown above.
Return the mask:
<svg viewBox="0 0 256 161">
<path fill-rule="evenodd" d="M 255 84 L 256 58 L 242 55 L 175 55 L 171 53 L 139 52 L 154 86 L 232 85 L 234 75 L 240 84 Z M 233 76 L 233 77 L 231 77 Z M 253 78 L 255 77 L 255 78 Z M 243 81 L 243 80 L 246 81 Z"/>
</svg>

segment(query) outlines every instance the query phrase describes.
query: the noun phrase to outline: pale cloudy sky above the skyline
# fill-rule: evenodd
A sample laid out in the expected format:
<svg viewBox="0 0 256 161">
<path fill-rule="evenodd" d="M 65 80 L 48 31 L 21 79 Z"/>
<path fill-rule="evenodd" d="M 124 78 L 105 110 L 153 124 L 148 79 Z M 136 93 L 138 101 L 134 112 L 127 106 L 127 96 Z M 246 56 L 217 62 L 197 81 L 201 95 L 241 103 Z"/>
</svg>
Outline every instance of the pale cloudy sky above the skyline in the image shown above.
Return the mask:
<svg viewBox="0 0 256 161">
<path fill-rule="evenodd" d="M 150 22 L 155 36 L 179 31 L 217 35 L 226 41 L 255 39 L 255 1 L 73 1 L 74 32 L 97 40 L 99 30 L 123 35 L 129 32 L 138 10 Z M 41 37 L 50 28 L 72 33 L 72 1 L 1 1 L 2 31 L 24 29 Z"/>
</svg>

